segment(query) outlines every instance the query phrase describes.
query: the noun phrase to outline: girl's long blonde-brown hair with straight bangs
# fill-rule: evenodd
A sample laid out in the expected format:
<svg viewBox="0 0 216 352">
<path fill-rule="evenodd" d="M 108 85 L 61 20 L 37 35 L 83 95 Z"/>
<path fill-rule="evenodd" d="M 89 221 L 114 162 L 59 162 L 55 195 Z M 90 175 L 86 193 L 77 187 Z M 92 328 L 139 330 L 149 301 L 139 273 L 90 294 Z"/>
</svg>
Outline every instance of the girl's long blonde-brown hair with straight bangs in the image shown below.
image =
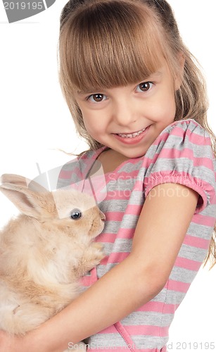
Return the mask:
<svg viewBox="0 0 216 352">
<path fill-rule="evenodd" d="M 207 121 L 208 99 L 201 69 L 182 42 L 172 8 L 165 0 L 70 0 L 61 13 L 59 80 L 78 134 L 89 149 L 101 144 L 88 134 L 75 91 L 124 86 L 155 73 L 165 58 L 181 87 L 175 92 L 174 120 L 193 118 L 216 139 Z M 215 255 L 212 237 L 206 261 Z M 205 261 L 205 263 L 206 263 Z"/>
</svg>

